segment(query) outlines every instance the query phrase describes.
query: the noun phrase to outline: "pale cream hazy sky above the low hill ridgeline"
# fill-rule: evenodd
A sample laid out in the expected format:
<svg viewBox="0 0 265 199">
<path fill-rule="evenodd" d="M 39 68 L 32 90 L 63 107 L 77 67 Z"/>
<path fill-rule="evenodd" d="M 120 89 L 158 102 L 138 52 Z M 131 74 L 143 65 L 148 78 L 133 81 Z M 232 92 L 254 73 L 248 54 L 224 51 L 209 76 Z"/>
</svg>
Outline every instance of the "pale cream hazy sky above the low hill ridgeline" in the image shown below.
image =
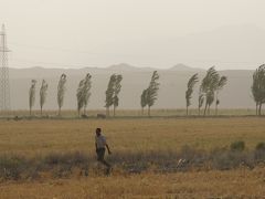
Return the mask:
<svg viewBox="0 0 265 199">
<path fill-rule="evenodd" d="M 264 0 L 0 0 L 0 23 L 11 67 L 254 69 L 264 10 Z"/>
</svg>

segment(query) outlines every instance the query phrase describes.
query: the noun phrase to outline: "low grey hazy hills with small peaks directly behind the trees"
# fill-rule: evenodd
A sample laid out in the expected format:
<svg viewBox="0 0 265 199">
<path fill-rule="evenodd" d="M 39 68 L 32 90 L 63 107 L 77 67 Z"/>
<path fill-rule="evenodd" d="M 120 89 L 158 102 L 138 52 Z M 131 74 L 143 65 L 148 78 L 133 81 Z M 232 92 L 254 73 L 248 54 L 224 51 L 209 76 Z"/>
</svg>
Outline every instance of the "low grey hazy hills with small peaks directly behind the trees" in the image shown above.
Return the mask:
<svg viewBox="0 0 265 199">
<path fill-rule="evenodd" d="M 38 80 L 36 101 L 34 108 L 39 109 L 39 90 L 42 78 L 49 83 L 47 101 L 44 109 L 56 109 L 56 87 L 62 73 L 67 75 L 64 109 L 76 109 L 76 88 L 81 78 L 86 73 L 92 74 L 92 96 L 88 109 L 104 108 L 105 91 L 110 74 L 123 74 L 120 104 L 118 108 L 140 108 L 140 94 L 149 84 L 151 67 L 136 67 L 129 64 L 116 64 L 106 69 L 10 69 L 11 80 L 11 105 L 12 109 L 29 108 L 29 88 L 32 78 Z M 189 77 L 199 73 L 200 80 L 204 76 L 205 70 L 194 69 L 184 64 L 177 64 L 168 70 L 158 70 L 160 74 L 160 90 L 158 101 L 153 108 L 184 108 L 184 92 Z M 251 70 L 220 71 L 229 77 L 229 83 L 220 93 L 221 108 L 254 108 L 255 104 L 251 97 L 252 74 Z M 198 106 L 198 86 L 193 94 L 191 107 Z"/>
</svg>

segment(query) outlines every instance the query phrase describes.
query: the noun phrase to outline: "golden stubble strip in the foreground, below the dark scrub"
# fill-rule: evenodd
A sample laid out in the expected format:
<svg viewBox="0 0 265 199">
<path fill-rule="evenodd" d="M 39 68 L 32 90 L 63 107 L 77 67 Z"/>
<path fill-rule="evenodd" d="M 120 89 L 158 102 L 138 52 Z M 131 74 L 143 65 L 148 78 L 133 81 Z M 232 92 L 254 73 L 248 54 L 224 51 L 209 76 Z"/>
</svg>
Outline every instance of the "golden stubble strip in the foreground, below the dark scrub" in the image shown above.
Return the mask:
<svg viewBox="0 0 265 199">
<path fill-rule="evenodd" d="M 0 185 L 0 198 L 264 198 L 265 169 L 46 179 Z"/>
</svg>

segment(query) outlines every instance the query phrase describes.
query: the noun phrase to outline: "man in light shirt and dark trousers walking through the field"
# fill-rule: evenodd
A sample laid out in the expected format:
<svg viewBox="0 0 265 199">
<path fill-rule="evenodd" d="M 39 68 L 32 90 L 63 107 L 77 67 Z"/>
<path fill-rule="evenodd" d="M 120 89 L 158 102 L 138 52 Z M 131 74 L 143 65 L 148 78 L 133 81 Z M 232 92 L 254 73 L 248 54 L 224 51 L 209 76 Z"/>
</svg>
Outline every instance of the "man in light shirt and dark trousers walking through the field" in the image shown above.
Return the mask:
<svg viewBox="0 0 265 199">
<path fill-rule="evenodd" d="M 107 145 L 106 138 L 102 135 L 102 128 L 96 128 L 95 146 L 97 160 L 107 167 L 106 174 L 109 175 L 112 166 L 104 159 L 104 156 L 106 148 L 109 155 L 112 151 Z"/>
</svg>

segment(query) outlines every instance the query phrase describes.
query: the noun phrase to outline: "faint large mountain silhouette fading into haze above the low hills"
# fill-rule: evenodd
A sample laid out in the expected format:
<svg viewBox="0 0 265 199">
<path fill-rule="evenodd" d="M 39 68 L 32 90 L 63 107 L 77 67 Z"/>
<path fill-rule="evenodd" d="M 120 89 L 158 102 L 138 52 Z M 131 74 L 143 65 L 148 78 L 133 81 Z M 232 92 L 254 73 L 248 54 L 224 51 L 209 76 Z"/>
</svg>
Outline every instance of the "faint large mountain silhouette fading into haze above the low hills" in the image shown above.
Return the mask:
<svg viewBox="0 0 265 199">
<path fill-rule="evenodd" d="M 103 63 L 126 60 L 127 63 L 145 63 L 155 67 L 170 66 L 178 61 L 203 69 L 212 65 L 254 69 L 264 62 L 264 35 L 265 30 L 258 27 L 240 24 L 223 25 L 182 36 L 139 38 L 134 42 L 129 39 L 115 40 L 100 49 L 97 59 L 103 60 Z"/>
</svg>

